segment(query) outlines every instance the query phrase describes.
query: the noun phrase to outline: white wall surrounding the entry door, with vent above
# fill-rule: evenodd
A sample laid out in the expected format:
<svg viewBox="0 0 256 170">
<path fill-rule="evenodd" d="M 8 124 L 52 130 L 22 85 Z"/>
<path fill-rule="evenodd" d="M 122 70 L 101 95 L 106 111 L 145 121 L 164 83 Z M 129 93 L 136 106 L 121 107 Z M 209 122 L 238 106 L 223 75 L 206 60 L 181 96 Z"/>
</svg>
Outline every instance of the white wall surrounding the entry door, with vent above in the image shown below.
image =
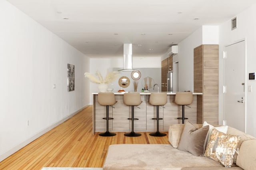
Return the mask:
<svg viewBox="0 0 256 170">
<path fill-rule="evenodd" d="M 220 66 L 219 66 L 219 120 L 223 120 L 223 71 L 224 61 L 222 59 L 225 45 L 232 44 L 238 40 L 246 39 L 246 131 L 248 134 L 256 136 L 256 81 L 249 81 L 248 74 L 256 72 L 256 4 L 237 15 L 237 28 L 231 30 L 231 19 L 220 25 Z M 252 92 L 248 93 L 248 86 L 252 86 Z"/>
</svg>

